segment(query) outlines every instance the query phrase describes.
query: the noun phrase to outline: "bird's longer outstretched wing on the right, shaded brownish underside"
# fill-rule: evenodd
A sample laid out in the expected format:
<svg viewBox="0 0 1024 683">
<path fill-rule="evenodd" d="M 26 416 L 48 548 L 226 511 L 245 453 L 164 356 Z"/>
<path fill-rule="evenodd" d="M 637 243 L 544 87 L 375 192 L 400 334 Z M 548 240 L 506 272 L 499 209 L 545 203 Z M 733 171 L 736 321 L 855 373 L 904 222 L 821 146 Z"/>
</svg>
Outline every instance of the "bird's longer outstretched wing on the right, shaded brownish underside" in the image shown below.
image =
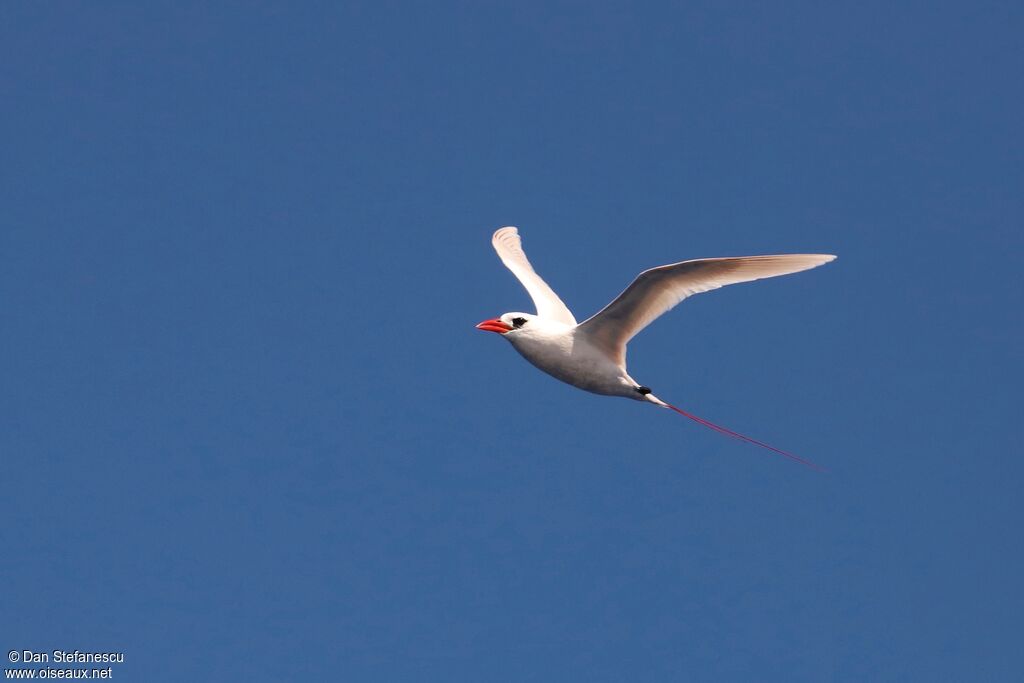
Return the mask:
<svg viewBox="0 0 1024 683">
<path fill-rule="evenodd" d="M 814 268 L 836 257 L 830 254 L 780 254 L 701 258 L 644 270 L 614 301 L 580 325 L 591 341 L 620 364 L 626 364 L 626 343 L 654 318 L 691 294 L 785 275 Z"/>
</svg>

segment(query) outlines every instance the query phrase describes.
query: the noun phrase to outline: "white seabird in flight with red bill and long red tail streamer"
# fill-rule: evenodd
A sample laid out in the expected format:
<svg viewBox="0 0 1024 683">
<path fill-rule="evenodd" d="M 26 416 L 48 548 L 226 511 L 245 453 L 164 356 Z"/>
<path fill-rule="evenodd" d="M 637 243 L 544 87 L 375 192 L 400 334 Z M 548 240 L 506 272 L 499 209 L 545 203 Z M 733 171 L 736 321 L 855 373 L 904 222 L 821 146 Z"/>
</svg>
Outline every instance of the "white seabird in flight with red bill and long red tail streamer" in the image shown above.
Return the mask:
<svg viewBox="0 0 1024 683">
<path fill-rule="evenodd" d="M 662 400 L 626 372 L 626 344 L 655 318 L 692 294 L 808 270 L 835 260 L 835 256 L 735 256 L 662 265 L 641 272 L 611 303 L 578 324 L 558 295 L 534 270 L 522 250 L 518 229 L 511 226 L 499 229 L 492 244 L 502 262 L 526 289 L 537 307 L 537 314 L 504 313 L 483 321 L 476 326 L 477 329 L 502 335 L 526 360 L 574 387 L 667 408 L 719 433 L 817 468 L 810 461 Z"/>
</svg>

